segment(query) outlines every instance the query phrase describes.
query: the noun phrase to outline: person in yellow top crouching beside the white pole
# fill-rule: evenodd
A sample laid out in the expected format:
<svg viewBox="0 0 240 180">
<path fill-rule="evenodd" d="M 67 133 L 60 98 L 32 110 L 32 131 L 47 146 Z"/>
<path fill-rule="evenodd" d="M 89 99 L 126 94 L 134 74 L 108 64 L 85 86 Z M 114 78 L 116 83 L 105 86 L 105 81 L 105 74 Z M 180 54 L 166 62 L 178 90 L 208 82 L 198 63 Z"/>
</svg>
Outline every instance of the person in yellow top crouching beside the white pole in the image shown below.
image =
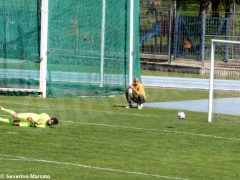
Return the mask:
<svg viewBox="0 0 240 180">
<path fill-rule="evenodd" d="M 132 85 L 130 85 L 126 91 L 126 99 L 128 106 L 126 108 L 131 108 L 132 101 L 137 103 L 137 108 L 142 109 L 143 103 L 146 102 L 145 90 L 140 82 L 139 78 L 135 77 Z"/>
</svg>

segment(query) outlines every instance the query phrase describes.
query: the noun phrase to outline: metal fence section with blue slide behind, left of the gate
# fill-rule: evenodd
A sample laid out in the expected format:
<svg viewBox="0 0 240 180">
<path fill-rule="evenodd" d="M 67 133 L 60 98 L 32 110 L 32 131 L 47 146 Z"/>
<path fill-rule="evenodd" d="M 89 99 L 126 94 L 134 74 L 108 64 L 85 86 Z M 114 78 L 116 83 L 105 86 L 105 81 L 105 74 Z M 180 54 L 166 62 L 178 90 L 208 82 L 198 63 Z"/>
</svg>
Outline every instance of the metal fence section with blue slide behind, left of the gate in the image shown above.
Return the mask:
<svg viewBox="0 0 240 180">
<path fill-rule="evenodd" d="M 139 43 L 142 53 L 164 55 L 168 54 L 170 14 L 168 4 L 156 2 L 141 1 Z"/>
</svg>

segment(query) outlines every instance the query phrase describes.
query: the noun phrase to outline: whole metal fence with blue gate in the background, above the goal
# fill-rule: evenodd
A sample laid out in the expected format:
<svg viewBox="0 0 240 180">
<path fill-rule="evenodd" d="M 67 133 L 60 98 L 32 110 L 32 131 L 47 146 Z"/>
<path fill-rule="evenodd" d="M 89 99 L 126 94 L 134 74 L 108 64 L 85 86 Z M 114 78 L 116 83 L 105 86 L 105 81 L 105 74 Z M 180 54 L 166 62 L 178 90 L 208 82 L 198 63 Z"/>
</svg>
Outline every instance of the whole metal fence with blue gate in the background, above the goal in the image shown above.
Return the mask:
<svg viewBox="0 0 240 180">
<path fill-rule="evenodd" d="M 240 7 L 219 17 L 153 4 L 142 6 L 140 11 L 141 54 L 204 61 L 210 59 L 211 39 L 240 41 Z"/>
</svg>

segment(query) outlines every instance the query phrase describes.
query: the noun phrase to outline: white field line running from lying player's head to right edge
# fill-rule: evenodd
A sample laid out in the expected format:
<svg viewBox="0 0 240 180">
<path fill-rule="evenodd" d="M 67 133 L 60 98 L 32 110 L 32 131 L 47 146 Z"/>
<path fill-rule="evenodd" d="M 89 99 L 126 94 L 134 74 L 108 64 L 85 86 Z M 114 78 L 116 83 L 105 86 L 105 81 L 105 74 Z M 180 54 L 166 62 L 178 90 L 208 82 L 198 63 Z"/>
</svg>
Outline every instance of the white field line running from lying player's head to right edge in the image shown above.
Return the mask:
<svg viewBox="0 0 240 180">
<path fill-rule="evenodd" d="M 141 130 L 141 131 L 158 131 L 158 132 L 167 132 L 167 133 L 176 133 L 182 135 L 190 135 L 190 136 L 200 136 L 200 137 L 207 137 L 207 138 L 214 138 L 214 139 L 225 139 L 225 140 L 233 140 L 233 141 L 240 141 L 239 138 L 230 138 L 230 137 L 223 137 L 223 136 L 215 136 L 210 134 L 199 134 L 199 133 L 191 133 L 191 132 L 184 132 L 184 131 L 170 131 L 165 129 L 152 129 L 152 128 L 139 128 L 139 127 L 130 127 L 130 126 L 117 126 L 117 125 L 109 125 L 109 124 L 98 124 L 98 123 L 85 123 L 85 122 L 74 122 L 74 121 L 62 121 L 63 123 L 78 123 L 84 125 L 91 125 L 91 126 L 103 126 L 103 127 L 111 127 L 111 128 L 123 128 L 123 129 L 132 129 L 132 130 Z"/>
</svg>

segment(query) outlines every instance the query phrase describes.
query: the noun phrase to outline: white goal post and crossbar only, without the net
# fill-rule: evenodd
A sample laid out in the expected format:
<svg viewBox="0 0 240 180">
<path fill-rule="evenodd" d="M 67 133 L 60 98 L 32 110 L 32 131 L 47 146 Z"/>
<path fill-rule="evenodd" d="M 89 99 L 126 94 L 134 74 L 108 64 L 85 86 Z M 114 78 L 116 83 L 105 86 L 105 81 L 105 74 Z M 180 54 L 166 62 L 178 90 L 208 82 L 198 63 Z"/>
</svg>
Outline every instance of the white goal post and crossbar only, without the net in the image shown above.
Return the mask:
<svg viewBox="0 0 240 180">
<path fill-rule="evenodd" d="M 208 98 L 208 122 L 212 122 L 213 113 L 213 86 L 214 86 L 214 61 L 215 61 L 215 44 L 229 43 L 240 44 L 240 41 L 212 39 L 211 41 L 211 63 L 210 63 L 210 79 L 209 79 L 209 98 Z"/>
</svg>

